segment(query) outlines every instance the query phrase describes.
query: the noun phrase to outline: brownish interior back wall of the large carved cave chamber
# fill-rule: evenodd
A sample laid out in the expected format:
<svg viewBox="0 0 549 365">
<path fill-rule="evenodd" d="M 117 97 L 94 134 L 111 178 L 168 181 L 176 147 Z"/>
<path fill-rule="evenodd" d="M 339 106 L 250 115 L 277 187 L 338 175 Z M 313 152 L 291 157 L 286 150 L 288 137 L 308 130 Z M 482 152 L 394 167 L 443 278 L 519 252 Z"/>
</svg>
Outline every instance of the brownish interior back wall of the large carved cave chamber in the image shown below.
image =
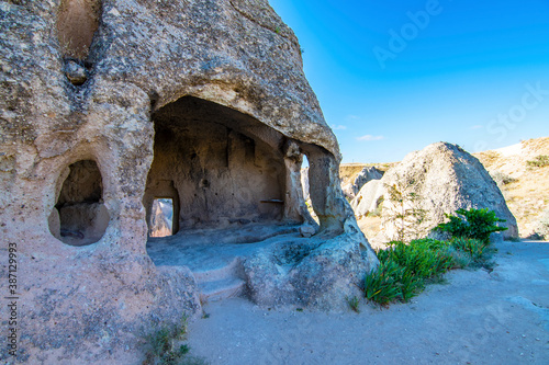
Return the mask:
<svg viewBox="0 0 549 365">
<path fill-rule="evenodd" d="M 153 121 L 147 221 L 155 197 L 173 198 L 177 229 L 284 218 L 287 172 L 284 157 L 273 148 L 281 140 L 274 130 L 190 96 L 164 106 Z"/>
</svg>

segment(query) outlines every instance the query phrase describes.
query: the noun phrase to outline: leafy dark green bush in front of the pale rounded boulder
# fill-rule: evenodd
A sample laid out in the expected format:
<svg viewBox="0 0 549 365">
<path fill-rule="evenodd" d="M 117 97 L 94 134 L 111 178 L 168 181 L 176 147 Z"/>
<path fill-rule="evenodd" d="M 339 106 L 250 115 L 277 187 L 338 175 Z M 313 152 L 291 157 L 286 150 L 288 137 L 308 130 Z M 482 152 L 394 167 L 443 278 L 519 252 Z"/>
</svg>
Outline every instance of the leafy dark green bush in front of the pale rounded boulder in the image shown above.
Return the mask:
<svg viewBox="0 0 549 365">
<path fill-rule="evenodd" d="M 458 209 L 456 213 L 459 216 L 446 215 L 450 219 L 448 223 L 438 225 L 435 229 L 442 232 L 448 232 L 452 238 L 471 238 L 478 239 L 485 244 L 490 242 L 490 235 L 506 230 L 506 227 L 498 227 L 497 223 L 503 223 L 505 219 L 500 219 L 495 216 L 494 210 L 484 209 Z"/>
</svg>

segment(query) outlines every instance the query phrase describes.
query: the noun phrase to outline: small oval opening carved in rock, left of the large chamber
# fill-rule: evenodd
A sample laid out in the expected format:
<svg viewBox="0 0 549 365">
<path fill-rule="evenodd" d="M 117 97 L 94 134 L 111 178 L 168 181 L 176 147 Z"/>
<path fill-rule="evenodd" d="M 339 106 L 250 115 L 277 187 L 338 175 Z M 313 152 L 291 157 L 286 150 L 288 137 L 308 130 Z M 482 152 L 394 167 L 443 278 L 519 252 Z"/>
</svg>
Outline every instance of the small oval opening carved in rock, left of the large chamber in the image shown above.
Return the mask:
<svg viewBox="0 0 549 365">
<path fill-rule="evenodd" d="M 101 172 L 96 161 L 82 160 L 70 164 L 64 175 L 49 216 L 49 231 L 70 246 L 94 243 L 103 237 L 110 220 Z"/>
</svg>

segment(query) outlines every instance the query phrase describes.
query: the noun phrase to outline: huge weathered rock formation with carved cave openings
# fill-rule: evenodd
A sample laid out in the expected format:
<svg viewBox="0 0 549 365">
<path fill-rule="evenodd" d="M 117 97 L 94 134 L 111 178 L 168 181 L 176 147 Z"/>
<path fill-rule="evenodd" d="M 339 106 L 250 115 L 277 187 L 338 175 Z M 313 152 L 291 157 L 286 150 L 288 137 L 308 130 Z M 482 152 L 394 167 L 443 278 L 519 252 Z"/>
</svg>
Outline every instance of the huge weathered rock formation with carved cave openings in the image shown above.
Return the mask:
<svg viewBox="0 0 549 365">
<path fill-rule="evenodd" d="M 250 259 L 251 297 L 337 305 L 377 265 L 340 191 L 337 141 L 300 45 L 266 0 L 18 0 L 0 13 L 0 226 L 2 252 L 18 248 L 16 361 L 142 361 L 152 331 L 201 312 L 184 263 L 156 266 L 147 253 L 152 197 L 175 198 L 181 231 L 314 224 L 303 155 L 325 239 L 288 265 L 280 258 L 293 248 Z M 80 161 L 97 164 L 101 194 L 63 201 Z M 212 208 L 221 203 L 226 214 Z M 97 237 L 69 229 L 70 242 L 59 240 L 74 223 L 64 207 L 97 221 Z"/>
</svg>

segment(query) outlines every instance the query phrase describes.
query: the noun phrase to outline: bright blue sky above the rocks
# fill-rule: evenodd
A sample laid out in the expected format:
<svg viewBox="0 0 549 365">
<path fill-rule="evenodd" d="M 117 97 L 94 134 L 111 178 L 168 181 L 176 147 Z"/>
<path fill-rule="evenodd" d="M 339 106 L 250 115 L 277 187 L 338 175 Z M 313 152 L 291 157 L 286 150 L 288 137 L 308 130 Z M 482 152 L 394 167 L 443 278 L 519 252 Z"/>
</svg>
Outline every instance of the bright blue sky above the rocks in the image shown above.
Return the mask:
<svg viewBox="0 0 549 365">
<path fill-rule="evenodd" d="M 549 1 L 270 0 L 344 162 L 549 136 Z"/>
</svg>

